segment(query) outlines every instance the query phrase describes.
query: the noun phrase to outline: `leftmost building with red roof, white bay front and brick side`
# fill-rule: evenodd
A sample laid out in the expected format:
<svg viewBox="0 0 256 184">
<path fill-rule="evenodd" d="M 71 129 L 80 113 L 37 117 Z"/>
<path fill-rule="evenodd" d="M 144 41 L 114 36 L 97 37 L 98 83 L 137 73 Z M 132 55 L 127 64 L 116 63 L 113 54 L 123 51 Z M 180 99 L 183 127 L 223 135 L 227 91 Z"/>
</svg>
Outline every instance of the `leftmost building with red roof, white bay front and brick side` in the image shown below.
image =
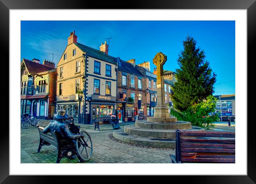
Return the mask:
<svg viewBox="0 0 256 184">
<path fill-rule="evenodd" d="M 54 62 L 38 59 L 22 60 L 21 115 L 28 114 L 39 119 L 53 119 L 56 100 L 57 71 Z"/>
</svg>

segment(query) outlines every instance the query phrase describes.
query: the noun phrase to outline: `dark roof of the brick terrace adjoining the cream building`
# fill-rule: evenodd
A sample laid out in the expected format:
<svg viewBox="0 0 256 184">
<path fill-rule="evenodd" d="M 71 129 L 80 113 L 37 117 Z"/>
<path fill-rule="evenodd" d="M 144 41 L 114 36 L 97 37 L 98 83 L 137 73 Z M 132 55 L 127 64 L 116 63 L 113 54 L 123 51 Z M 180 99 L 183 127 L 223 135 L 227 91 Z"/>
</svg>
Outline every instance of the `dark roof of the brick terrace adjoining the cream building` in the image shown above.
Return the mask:
<svg viewBox="0 0 256 184">
<path fill-rule="evenodd" d="M 117 61 L 118 59 L 120 59 L 119 57 L 117 57 L 117 58 L 115 58 L 113 56 L 109 56 L 109 57 L 111 59 L 113 59 L 114 61 Z M 137 67 L 134 67 L 131 63 L 123 61 L 122 59 L 120 59 L 120 61 L 121 61 L 121 66 L 118 66 L 119 71 L 123 71 L 123 72 L 127 72 L 127 73 L 131 73 L 134 75 L 139 75 L 139 76 L 145 77 L 143 75 L 143 73 L 140 72 L 140 70 L 138 70 Z"/>
</svg>

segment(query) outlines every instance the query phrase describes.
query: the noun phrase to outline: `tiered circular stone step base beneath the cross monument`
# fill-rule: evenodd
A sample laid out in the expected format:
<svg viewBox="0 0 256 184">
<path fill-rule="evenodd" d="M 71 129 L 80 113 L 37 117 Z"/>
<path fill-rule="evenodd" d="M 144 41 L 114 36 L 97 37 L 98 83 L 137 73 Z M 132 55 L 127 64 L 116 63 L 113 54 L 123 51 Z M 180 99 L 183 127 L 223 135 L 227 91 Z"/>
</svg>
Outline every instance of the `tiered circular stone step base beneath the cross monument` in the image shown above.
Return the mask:
<svg viewBox="0 0 256 184">
<path fill-rule="evenodd" d="M 134 125 L 124 126 L 124 130 L 114 131 L 113 137 L 131 144 L 175 149 L 176 130 L 205 130 L 201 127 L 191 126 L 191 122 L 177 121 L 177 118 L 170 118 L 173 122 L 152 122 L 149 121 L 151 118 L 153 117 L 148 117 L 148 120 L 138 120 Z M 156 119 L 159 121 L 159 118 Z"/>
</svg>

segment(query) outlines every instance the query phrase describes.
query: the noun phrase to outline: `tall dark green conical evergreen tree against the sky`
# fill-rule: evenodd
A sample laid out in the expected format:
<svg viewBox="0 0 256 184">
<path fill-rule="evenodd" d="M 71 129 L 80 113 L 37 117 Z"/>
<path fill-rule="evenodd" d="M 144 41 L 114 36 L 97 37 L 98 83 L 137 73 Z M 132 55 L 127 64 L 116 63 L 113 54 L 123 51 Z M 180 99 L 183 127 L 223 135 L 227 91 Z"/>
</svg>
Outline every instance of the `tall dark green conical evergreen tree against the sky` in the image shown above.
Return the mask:
<svg viewBox="0 0 256 184">
<path fill-rule="evenodd" d="M 196 40 L 187 36 L 183 41 L 183 51 L 178 55 L 179 69 L 176 69 L 177 82 L 173 86 L 173 105 L 184 111 L 214 92 L 216 74 L 205 60 L 205 52 L 196 47 Z"/>
</svg>

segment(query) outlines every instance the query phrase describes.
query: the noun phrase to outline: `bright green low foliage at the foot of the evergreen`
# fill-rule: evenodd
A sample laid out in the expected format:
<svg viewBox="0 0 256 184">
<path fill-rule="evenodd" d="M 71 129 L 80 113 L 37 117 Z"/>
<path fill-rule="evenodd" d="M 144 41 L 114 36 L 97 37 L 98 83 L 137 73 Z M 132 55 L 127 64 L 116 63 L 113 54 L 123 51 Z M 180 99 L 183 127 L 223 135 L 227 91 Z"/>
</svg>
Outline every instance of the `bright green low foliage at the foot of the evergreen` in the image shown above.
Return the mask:
<svg viewBox="0 0 256 184">
<path fill-rule="evenodd" d="M 207 96 L 206 100 L 199 102 L 196 105 L 188 107 L 184 111 L 171 109 L 170 114 L 177 117 L 179 121 L 189 121 L 193 126 L 203 128 L 214 127 L 213 122 L 217 121 L 218 116 L 208 115 L 213 112 L 216 107 L 217 98 L 212 95 Z M 208 116 L 207 116 L 208 115 Z"/>
</svg>

